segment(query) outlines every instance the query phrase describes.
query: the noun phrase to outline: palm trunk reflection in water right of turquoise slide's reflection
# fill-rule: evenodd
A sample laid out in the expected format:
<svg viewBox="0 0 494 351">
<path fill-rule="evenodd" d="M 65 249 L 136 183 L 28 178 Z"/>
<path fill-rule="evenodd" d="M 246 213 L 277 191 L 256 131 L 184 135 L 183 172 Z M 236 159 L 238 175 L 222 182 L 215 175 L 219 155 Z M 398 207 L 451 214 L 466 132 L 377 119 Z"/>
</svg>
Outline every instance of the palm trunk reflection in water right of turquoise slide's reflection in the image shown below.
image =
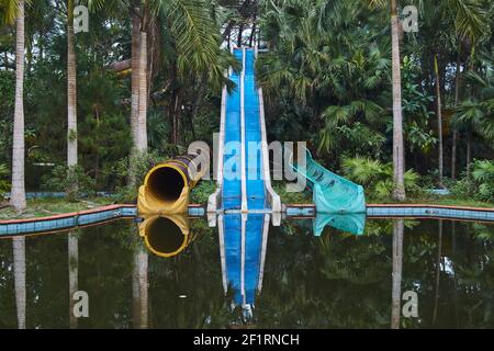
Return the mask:
<svg viewBox="0 0 494 351">
<path fill-rule="evenodd" d="M 400 329 L 403 273 L 403 234 L 405 222 L 398 219 L 393 227 L 393 287 L 391 303 L 391 328 Z"/>
</svg>

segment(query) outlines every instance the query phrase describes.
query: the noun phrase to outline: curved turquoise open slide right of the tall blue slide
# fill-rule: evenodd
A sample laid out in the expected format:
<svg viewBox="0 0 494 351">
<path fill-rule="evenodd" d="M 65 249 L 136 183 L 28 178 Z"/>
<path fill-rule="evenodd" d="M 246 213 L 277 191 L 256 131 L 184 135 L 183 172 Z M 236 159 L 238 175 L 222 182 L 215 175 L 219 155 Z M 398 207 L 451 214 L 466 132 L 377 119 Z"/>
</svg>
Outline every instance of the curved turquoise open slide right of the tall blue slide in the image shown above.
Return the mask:
<svg viewBox="0 0 494 351">
<path fill-rule="evenodd" d="M 318 213 L 366 213 L 363 188 L 317 163 L 306 150 L 306 166 L 292 165 L 313 191 Z"/>
</svg>

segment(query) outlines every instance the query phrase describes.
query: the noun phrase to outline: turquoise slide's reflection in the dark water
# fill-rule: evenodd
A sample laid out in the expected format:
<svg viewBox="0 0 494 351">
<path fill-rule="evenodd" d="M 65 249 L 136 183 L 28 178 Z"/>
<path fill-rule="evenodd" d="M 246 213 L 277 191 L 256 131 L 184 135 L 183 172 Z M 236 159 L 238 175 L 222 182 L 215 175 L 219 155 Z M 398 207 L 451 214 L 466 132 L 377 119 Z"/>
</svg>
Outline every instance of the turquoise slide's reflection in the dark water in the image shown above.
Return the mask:
<svg viewBox="0 0 494 351">
<path fill-rule="evenodd" d="M 313 224 L 314 236 L 319 237 L 326 226 L 330 226 L 345 233 L 362 235 L 366 229 L 366 214 L 352 213 L 340 215 L 318 213 Z"/>
</svg>

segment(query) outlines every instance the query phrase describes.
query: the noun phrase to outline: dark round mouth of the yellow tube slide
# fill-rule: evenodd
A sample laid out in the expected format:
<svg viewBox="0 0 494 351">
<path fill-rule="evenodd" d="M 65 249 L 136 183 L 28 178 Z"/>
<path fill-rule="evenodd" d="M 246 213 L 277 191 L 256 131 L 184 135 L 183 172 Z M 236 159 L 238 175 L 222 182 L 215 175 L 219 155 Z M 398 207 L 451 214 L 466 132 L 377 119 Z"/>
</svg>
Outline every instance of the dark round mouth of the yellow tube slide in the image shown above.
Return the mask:
<svg viewBox="0 0 494 351">
<path fill-rule="evenodd" d="M 170 167 L 156 169 L 149 174 L 146 183 L 147 191 L 153 197 L 165 203 L 179 200 L 184 186 L 182 174 Z"/>
</svg>

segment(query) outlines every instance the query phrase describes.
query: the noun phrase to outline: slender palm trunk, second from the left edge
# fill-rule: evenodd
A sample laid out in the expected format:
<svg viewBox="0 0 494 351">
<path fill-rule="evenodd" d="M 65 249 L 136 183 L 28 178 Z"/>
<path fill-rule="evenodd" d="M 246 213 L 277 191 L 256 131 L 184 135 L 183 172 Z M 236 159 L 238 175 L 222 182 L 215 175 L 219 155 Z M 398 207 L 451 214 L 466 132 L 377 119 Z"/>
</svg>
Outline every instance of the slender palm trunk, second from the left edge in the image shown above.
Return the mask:
<svg viewBox="0 0 494 351">
<path fill-rule="evenodd" d="M 67 166 L 77 165 L 77 78 L 74 47 L 74 0 L 67 0 Z"/>
</svg>

